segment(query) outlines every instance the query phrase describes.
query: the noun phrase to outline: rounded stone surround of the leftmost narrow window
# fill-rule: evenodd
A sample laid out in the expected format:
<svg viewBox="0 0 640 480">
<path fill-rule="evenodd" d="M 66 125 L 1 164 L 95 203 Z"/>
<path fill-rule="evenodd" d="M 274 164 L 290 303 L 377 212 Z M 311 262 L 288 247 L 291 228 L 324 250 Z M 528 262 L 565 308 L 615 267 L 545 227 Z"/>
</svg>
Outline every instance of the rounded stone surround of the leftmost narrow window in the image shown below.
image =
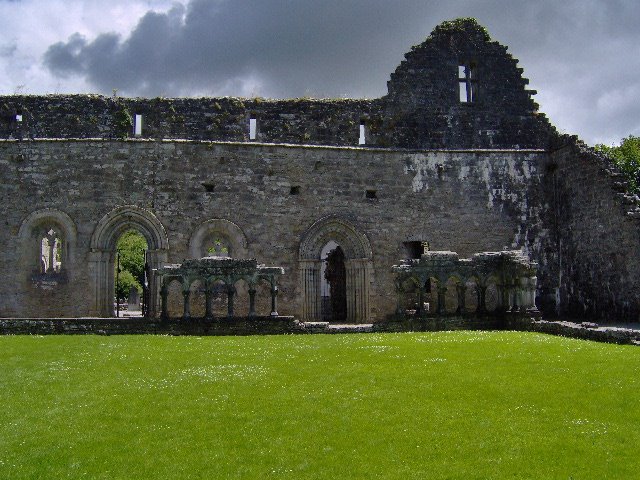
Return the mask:
<svg viewBox="0 0 640 480">
<path fill-rule="evenodd" d="M 62 244 L 60 271 L 57 273 L 62 273 L 68 280 L 74 271 L 78 231 L 71 217 L 60 210 L 37 210 L 22 221 L 18 230 L 21 270 L 28 275 L 46 273 L 41 271 L 42 239 L 50 230 L 55 231 Z"/>
</svg>

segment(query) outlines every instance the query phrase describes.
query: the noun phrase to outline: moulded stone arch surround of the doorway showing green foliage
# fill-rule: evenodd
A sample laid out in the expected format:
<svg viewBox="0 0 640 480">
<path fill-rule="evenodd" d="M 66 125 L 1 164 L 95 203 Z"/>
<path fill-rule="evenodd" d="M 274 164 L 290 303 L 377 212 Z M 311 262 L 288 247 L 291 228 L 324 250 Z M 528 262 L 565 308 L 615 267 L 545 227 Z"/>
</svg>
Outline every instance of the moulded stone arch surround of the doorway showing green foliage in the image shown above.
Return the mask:
<svg viewBox="0 0 640 480">
<path fill-rule="evenodd" d="M 116 242 L 127 230 L 136 230 L 148 245 L 147 264 L 149 276 L 148 315 L 155 317 L 159 305 L 159 285 L 153 269 L 167 263 L 169 239 L 158 218 L 148 210 L 133 205 L 117 207 L 98 222 L 91 237 L 89 275 L 93 282 L 94 305 L 92 315 L 111 317 L 114 315 L 114 261 Z"/>
</svg>

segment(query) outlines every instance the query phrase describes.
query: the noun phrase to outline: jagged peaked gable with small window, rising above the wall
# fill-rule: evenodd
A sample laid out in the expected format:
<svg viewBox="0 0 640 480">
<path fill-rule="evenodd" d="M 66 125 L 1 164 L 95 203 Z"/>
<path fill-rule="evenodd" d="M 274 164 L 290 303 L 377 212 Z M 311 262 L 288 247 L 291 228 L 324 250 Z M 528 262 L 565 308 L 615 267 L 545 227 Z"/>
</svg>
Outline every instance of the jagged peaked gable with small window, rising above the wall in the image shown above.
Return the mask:
<svg viewBox="0 0 640 480">
<path fill-rule="evenodd" d="M 531 98 L 536 91 L 526 88 L 522 72 L 507 47 L 492 41 L 475 19 L 438 25 L 405 55 L 388 82 L 390 143 L 546 148 L 552 127 L 538 113 Z"/>
</svg>

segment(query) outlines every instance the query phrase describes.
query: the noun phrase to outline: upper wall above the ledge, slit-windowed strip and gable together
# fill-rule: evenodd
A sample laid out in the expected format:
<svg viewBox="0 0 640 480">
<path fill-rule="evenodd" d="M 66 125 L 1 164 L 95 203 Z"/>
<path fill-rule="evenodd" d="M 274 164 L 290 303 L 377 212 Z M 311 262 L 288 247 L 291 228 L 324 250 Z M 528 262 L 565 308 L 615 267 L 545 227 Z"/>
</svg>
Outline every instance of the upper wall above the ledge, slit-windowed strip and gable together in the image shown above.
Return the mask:
<svg viewBox="0 0 640 480">
<path fill-rule="evenodd" d="M 375 100 L 0 97 L 0 138 L 141 138 L 474 149 L 545 148 L 552 128 L 525 88 L 518 60 L 473 20 L 437 27 Z M 459 67 L 473 66 L 474 98 L 461 102 Z M 477 86 L 477 88 L 476 88 Z M 250 119 L 256 120 L 255 139 Z M 18 121 L 19 120 L 19 121 Z"/>
</svg>

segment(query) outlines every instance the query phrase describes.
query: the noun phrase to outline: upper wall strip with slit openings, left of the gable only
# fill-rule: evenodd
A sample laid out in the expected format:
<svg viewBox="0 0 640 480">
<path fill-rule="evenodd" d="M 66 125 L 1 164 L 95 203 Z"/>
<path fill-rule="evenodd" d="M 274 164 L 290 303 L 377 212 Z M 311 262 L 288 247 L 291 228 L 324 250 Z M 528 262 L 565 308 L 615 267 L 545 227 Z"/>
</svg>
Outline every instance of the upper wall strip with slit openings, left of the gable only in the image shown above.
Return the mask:
<svg viewBox="0 0 640 480">
<path fill-rule="evenodd" d="M 119 98 L 101 95 L 0 97 L 0 138 L 141 138 L 357 146 L 360 124 L 380 116 L 379 100 Z M 16 120 L 21 116 L 21 121 Z"/>
</svg>

